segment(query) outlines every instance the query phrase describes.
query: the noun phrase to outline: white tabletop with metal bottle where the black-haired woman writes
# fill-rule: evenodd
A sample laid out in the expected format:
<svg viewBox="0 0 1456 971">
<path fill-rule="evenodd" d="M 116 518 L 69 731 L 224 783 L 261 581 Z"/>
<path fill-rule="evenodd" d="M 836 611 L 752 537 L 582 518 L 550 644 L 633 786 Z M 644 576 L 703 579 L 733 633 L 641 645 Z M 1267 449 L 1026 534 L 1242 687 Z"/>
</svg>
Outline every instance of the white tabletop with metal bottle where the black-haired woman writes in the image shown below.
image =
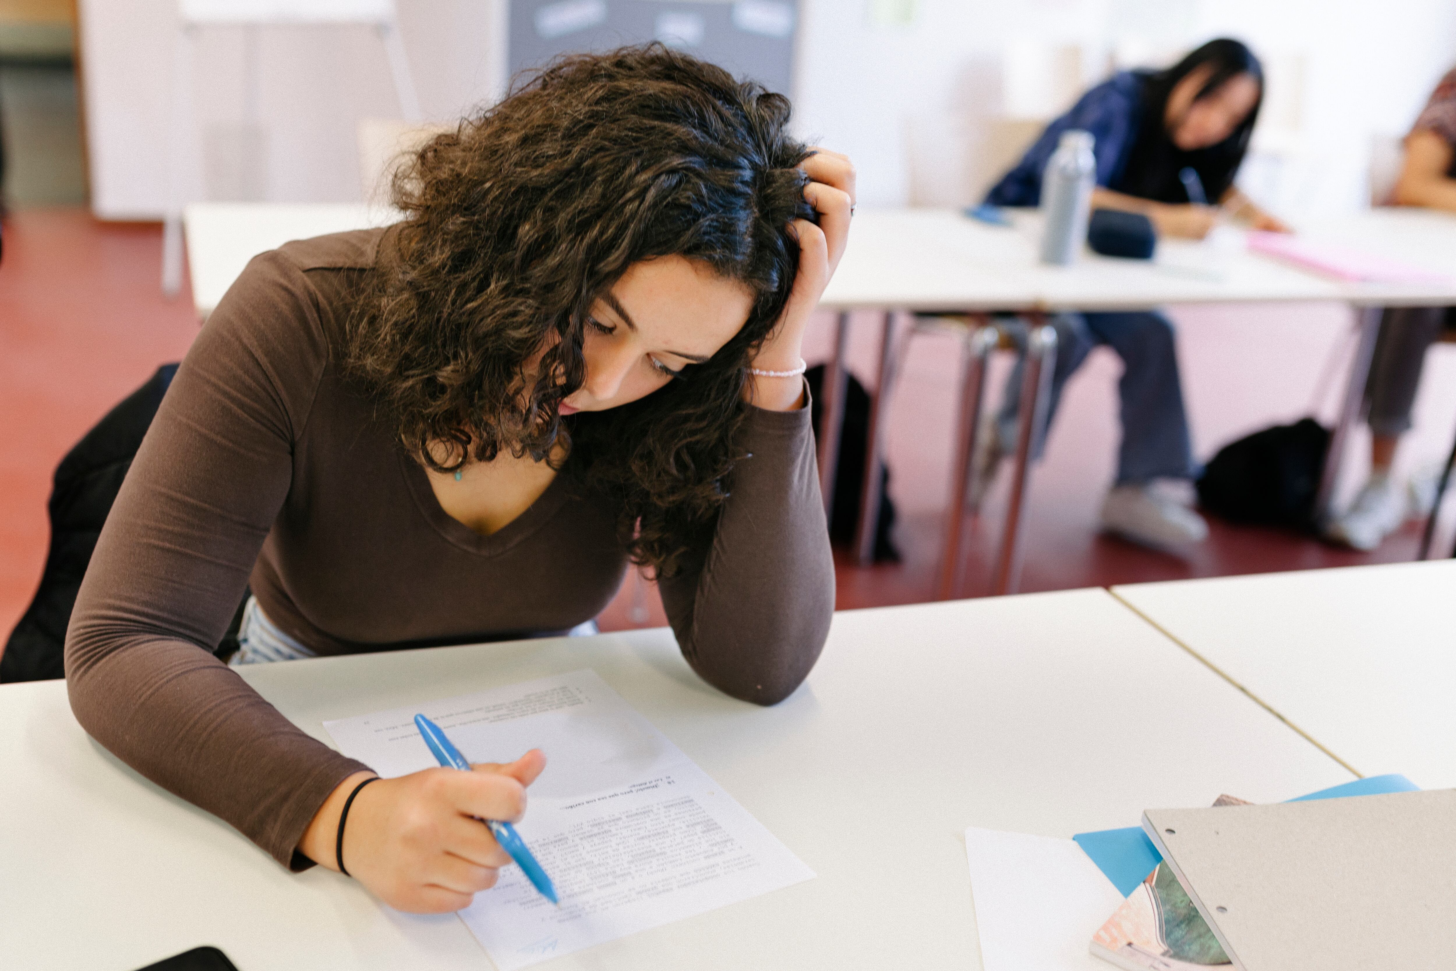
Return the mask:
<svg viewBox="0 0 1456 971">
<path fill-rule="evenodd" d="M 1299 226 L 1315 245 L 1364 250 L 1449 280 L 1377 284 L 1331 280 L 1243 249 L 1238 230 L 1208 240 L 1163 239 L 1150 261 L 1085 252 L 1072 266 L 1037 255 L 1041 220 L 1008 210 L 989 226 L 957 210 L 856 213 L 850 245 L 820 306 L 828 310 L 1150 310 L 1178 303 L 1340 300 L 1430 306 L 1456 301 L 1456 215 L 1377 208 Z"/>
</svg>

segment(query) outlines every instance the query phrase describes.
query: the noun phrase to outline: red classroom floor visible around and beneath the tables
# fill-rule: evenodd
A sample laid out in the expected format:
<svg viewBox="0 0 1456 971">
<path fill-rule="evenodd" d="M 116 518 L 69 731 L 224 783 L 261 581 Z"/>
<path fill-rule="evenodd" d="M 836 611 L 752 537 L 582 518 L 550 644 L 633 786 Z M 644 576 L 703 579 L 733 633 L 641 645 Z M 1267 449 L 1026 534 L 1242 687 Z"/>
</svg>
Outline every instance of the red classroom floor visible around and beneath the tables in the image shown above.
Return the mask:
<svg viewBox="0 0 1456 971">
<path fill-rule="evenodd" d="M 57 461 L 116 400 L 197 332 L 191 298 L 159 291 L 160 229 L 93 221 L 82 210 L 31 210 L 4 227 L 0 263 L 0 636 L 25 610 L 45 560 L 45 501 Z M 1216 447 L 1273 421 L 1310 411 L 1321 373 L 1348 328 L 1337 306 L 1192 307 L 1179 325 L 1195 448 Z M 810 360 L 827 349 L 828 317 L 817 322 Z M 875 373 L 875 317 L 856 317 L 850 361 Z M 916 339 L 893 397 L 887 454 L 901 510 L 906 562 L 858 568 L 839 556 L 842 609 L 932 598 L 945 501 L 957 346 Z M 1342 367 L 1342 364 L 1341 364 Z M 1005 362 L 999 361 L 996 371 Z M 1117 445 L 1117 360 L 1098 352 L 1067 386 L 1061 415 L 1031 492 L 1022 590 L 1063 590 L 1150 579 L 1217 576 L 1411 559 L 1415 527 L 1377 552 L 1358 555 L 1286 533 L 1213 523 L 1207 543 L 1185 555 L 1155 553 L 1096 533 L 1096 510 Z M 1338 368 L 1334 371 L 1342 377 Z M 1334 384 L 1338 384 L 1335 381 Z M 1331 392 L 1335 389 L 1329 387 Z M 1332 400 L 1332 393 L 1326 395 Z M 1328 416 L 1328 408 L 1322 411 Z M 1401 467 L 1436 461 L 1456 424 L 1456 354 L 1436 348 L 1417 405 L 1417 431 Z M 1354 443 L 1351 473 L 1361 473 Z M 1347 492 L 1350 488 L 1347 482 Z M 965 595 L 989 588 L 1000 528 L 993 492 L 973 537 Z M 645 620 L 644 620 L 645 614 Z M 651 585 L 629 582 L 603 614 L 604 629 L 662 623 Z"/>
</svg>

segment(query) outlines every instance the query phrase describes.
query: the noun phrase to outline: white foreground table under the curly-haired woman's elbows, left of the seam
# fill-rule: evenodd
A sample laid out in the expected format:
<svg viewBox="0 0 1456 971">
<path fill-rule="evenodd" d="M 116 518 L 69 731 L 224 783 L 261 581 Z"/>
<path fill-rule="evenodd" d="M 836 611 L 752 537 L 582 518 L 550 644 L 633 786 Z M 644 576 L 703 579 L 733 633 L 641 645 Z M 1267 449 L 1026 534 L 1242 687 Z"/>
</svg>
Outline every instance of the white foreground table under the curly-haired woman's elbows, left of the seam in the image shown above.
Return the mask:
<svg viewBox="0 0 1456 971">
<path fill-rule="evenodd" d="M 1101 590 L 843 613 L 770 709 L 702 684 L 667 630 L 258 665 L 322 719 L 594 668 L 818 876 L 540 965 L 980 967 L 961 834 L 1134 825 L 1220 792 L 1275 801 L 1351 779 Z M 0 955 L 128 971 L 199 943 L 242 971 L 489 968 L 453 916 L 386 910 L 106 756 L 58 681 L 0 686 Z M 871 795 L 874 793 L 874 795 Z"/>
</svg>

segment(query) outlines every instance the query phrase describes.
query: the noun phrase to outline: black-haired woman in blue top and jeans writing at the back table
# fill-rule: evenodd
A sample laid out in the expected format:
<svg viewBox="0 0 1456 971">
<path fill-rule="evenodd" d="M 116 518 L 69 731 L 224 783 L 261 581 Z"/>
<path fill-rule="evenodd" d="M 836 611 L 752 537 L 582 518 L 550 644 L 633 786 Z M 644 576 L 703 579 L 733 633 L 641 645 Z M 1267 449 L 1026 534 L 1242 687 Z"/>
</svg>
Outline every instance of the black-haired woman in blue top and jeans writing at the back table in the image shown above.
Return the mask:
<svg viewBox="0 0 1456 971">
<path fill-rule="evenodd" d="M 1229 39 L 1210 41 L 1163 71 L 1114 74 L 1051 122 L 986 201 L 1037 205 L 1057 140 L 1080 128 L 1095 137 L 1093 207 L 1142 213 L 1165 236 L 1201 239 L 1224 214 L 1255 229 L 1283 230 L 1233 185 L 1262 93 L 1258 60 Z M 1158 479 L 1195 475 L 1172 325 L 1152 312 L 1060 314 L 1053 325 L 1059 339 L 1053 411 L 1067 377 L 1093 346 L 1105 344 L 1123 358 L 1123 445 L 1117 483 L 1102 504 L 1104 528 L 1152 546 L 1201 540 L 1203 518 L 1152 488 Z M 993 434 L 980 437 L 977 495 L 1013 448 L 1019 370 L 1012 377 L 994 428 L 987 429 Z"/>
</svg>

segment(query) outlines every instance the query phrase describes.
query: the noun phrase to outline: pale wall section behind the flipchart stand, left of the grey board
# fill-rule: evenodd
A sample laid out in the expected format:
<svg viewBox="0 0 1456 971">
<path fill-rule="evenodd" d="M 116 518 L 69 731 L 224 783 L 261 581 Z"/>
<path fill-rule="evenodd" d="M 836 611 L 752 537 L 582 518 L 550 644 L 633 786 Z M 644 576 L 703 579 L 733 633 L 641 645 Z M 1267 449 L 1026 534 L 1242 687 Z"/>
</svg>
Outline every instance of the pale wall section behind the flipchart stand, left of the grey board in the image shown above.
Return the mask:
<svg viewBox="0 0 1456 971">
<path fill-rule="evenodd" d="M 498 0 L 399 1 L 400 36 L 427 118 L 457 118 L 501 90 L 498 12 Z M 160 218 L 167 198 L 176 0 L 80 0 L 80 25 L 92 208 L 100 218 Z M 220 128 L 236 128 L 246 118 L 245 44 L 240 28 L 205 28 L 197 35 L 199 159 L 208 150 L 217 154 Z M 294 26 L 261 29 L 256 44 L 266 157 L 261 198 L 363 198 L 355 124 L 400 114 L 379 38 L 365 26 Z M 214 192 L 230 175 L 215 170 L 218 162 L 226 159 L 214 159 Z M 199 166 L 188 197 L 208 195 Z"/>
</svg>

